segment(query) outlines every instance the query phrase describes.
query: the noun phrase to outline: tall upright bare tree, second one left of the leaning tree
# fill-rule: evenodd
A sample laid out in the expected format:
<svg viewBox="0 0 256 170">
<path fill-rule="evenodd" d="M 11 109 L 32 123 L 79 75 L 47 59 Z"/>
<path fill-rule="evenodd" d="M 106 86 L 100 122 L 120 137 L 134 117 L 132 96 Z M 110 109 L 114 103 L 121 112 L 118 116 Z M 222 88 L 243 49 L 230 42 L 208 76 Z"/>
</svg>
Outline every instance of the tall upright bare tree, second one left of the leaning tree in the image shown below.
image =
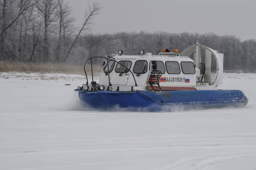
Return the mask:
<svg viewBox="0 0 256 170">
<path fill-rule="evenodd" d="M 56 20 L 54 15 L 57 7 L 56 0 L 40 0 L 37 2 L 36 7 L 44 24 L 44 62 L 49 61 L 49 41 L 48 35 L 51 32 L 50 26 Z"/>
</svg>

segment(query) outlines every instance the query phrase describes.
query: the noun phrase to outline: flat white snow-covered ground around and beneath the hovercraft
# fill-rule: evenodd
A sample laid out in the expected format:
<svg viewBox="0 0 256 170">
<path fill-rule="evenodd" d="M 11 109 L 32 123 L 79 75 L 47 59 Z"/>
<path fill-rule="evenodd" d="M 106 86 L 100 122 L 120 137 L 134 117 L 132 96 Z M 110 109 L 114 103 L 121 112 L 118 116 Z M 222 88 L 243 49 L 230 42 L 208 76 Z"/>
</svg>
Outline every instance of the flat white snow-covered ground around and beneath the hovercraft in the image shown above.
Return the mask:
<svg viewBox="0 0 256 170">
<path fill-rule="evenodd" d="M 223 82 L 248 105 L 104 113 L 80 105 L 84 76 L 0 73 L 0 169 L 255 170 L 256 74 Z"/>
</svg>

